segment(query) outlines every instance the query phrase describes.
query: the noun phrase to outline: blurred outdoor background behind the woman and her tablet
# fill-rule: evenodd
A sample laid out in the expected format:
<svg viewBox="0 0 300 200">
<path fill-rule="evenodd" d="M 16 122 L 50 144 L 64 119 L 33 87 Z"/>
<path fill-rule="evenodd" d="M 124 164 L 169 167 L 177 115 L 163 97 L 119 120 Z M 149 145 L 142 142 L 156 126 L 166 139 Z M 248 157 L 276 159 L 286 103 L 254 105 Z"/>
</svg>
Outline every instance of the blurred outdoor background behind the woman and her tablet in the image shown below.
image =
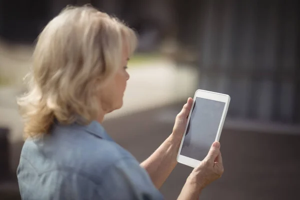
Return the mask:
<svg viewBox="0 0 300 200">
<path fill-rule="evenodd" d="M 65 5 L 86 3 L 139 35 L 124 106 L 104 121 L 119 144 L 142 161 L 196 89 L 227 93 L 225 172 L 200 199 L 300 199 L 297 0 L 0 0 L 0 199 L 20 199 L 15 96 L 25 90 L 33 42 Z M 177 164 L 161 188 L 166 199 L 190 171 Z"/>
</svg>

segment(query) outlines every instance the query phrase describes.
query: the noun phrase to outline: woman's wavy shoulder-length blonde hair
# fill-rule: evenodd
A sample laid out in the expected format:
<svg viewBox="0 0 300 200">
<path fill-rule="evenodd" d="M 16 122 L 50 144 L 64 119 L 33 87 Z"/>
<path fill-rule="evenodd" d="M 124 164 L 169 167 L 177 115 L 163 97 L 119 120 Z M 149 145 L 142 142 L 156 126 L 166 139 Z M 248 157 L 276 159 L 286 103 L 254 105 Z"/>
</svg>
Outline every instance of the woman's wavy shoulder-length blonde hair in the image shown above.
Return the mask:
<svg viewBox="0 0 300 200">
<path fill-rule="evenodd" d="M 28 92 L 17 99 L 24 136 L 49 132 L 54 119 L 96 119 L 99 87 L 119 67 L 123 45 L 132 53 L 136 42 L 134 31 L 115 17 L 89 5 L 64 8 L 39 34 Z"/>
</svg>

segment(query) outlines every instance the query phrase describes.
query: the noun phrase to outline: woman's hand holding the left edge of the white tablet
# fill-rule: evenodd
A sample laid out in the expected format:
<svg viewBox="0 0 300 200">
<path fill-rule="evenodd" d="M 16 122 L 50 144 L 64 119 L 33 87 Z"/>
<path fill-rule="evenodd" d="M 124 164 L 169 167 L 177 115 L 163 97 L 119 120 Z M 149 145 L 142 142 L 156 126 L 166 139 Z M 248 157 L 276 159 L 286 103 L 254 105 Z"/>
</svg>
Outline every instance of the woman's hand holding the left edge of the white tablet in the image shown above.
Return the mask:
<svg viewBox="0 0 300 200">
<path fill-rule="evenodd" d="M 188 98 L 187 102 L 183 105 L 181 111 L 177 114 L 175 118 L 175 123 L 172 131 L 172 136 L 175 142 L 180 144 L 183 132 L 185 130 L 187 117 L 192 105 L 192 98 Z"/>
</svg>

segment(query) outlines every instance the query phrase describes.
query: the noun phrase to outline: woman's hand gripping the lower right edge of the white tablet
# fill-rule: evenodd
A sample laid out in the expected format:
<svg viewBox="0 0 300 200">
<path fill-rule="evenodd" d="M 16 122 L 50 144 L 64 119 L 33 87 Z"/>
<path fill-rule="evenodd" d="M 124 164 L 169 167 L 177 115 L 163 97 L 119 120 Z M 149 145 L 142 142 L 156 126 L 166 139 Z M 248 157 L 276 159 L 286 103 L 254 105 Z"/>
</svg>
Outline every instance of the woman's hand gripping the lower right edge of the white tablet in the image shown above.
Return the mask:
<svg viewBox="0 0 300 200">
<path fill-rule="evenodd" d="M 206 157 L 187 177 L 186 182 L 195 184 L 202 190 L 206 185 L 221 177 L 223 170 L 220 143 L 215 141 Z"/>
</svg>

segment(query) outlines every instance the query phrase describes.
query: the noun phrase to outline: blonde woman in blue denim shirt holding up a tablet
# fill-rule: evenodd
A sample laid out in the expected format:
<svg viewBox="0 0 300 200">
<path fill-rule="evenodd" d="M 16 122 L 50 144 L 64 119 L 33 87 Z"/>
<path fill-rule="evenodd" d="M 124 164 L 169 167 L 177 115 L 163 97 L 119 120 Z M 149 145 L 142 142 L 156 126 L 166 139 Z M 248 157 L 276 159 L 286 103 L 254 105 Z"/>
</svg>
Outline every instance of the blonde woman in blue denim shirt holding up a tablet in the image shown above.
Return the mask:
<svg viewBox="0 0 300 200">
<path fill-rule="evenodd" d="M 162 199 L 192 104 L 144 162 L 116 144 L 101 123 L 122 106 L 134 32 L 90 6 L 67 7 L 38 36 L 29 91 L 18 99 L 26 136 L 17 178 L 22 199 Z M 198 199 L 222 174 L 219 143 L 188 176 L 178 198 Z"/>
</svg>

